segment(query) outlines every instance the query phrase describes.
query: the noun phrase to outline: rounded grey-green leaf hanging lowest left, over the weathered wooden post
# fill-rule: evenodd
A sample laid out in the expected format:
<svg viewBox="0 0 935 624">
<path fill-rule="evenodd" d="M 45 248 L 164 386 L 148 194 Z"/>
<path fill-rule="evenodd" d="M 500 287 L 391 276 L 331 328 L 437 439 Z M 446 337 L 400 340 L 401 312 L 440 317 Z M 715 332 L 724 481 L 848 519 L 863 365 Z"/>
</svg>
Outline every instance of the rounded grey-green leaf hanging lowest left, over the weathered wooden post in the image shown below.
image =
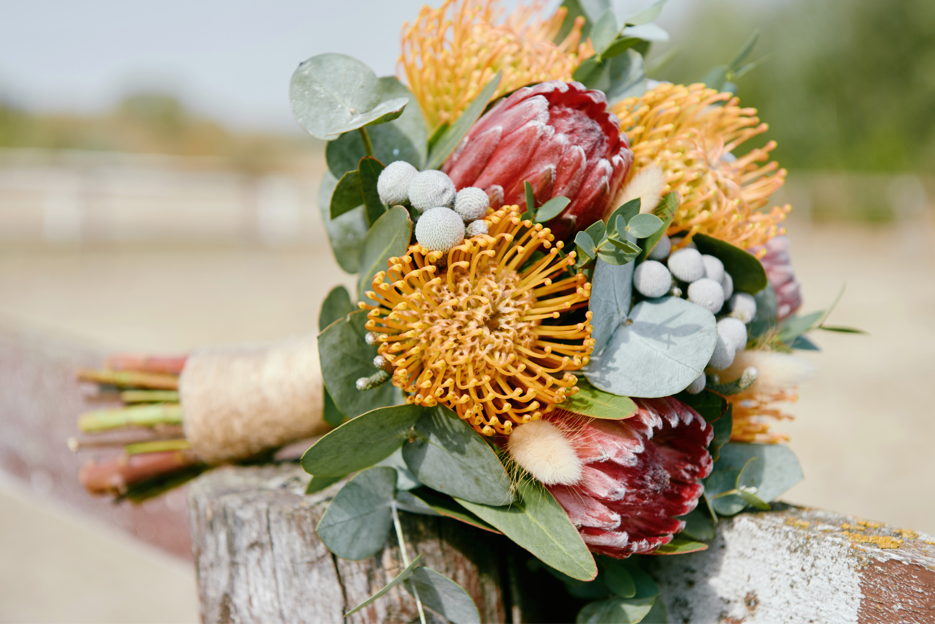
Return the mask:
<svg viewBox="0 0 935 624">
<path fill-rule="evenodd" d="M 367 559 L 386 543 L 395 493 L 395 470 L 382 466 L 365 470 L 338 491 L 315 532 L 341 559 Z"/>
</svg>

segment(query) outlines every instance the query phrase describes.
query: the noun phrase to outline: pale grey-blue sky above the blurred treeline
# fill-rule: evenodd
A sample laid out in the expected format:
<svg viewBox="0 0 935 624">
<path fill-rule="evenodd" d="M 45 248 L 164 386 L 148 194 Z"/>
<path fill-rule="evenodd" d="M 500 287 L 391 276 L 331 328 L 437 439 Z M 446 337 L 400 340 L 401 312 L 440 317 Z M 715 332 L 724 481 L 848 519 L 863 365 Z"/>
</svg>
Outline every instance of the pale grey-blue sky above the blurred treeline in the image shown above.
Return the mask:
<svg viewBox="0 0 935 624">
<path fill-rule="evenodd" d="M 670 0 L 659 23 L 677 23 L 691 2 Z M 94 112 L 126 92 L 156 89 L 237 128 L 294 131 L 287 93 L 298 63 L 343 52 L 378 76 L 394 74 L 402 22 L 424 4 L 2 0 L 0 98 L 33 110 Z M 627 15 L 650 0 L 614 4 Z"/>
</svg>

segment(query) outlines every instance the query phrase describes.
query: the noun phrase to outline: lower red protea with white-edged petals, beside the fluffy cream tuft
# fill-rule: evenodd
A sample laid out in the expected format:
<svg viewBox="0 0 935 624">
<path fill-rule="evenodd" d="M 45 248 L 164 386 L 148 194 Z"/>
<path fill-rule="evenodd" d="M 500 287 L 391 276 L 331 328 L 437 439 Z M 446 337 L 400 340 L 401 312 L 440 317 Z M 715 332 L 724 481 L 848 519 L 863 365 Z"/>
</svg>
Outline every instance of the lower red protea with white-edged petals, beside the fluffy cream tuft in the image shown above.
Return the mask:
<svg viewBox="0 0 935 624">
<path fill-rule="evenodd" d="M 634 399 L 625 420 L 582 418 L 556 409 L 550 422 L 582 461 L 573 485 L 546 486 L 596 553 L 624 559 L 669 544 L 676 517 L 698 504 L 711 474 L 712 426 L 688 405 L 664 397 Z"/>
</svg>

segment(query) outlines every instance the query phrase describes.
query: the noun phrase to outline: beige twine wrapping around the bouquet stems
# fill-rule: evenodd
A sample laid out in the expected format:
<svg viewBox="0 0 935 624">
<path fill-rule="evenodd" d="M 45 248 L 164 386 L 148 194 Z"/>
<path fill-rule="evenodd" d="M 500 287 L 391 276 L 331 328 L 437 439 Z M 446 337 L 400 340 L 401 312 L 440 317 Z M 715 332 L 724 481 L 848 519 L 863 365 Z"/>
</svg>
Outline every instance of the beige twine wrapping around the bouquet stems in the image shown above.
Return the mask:
<svg viewBox="0 0 935 624">
<path fill-rule="evenodd" d="M 242 460 L 325 433 L 314 334 L 200 348 L 179 380 L 185 435 L 202 461 Z"/>
</svg>

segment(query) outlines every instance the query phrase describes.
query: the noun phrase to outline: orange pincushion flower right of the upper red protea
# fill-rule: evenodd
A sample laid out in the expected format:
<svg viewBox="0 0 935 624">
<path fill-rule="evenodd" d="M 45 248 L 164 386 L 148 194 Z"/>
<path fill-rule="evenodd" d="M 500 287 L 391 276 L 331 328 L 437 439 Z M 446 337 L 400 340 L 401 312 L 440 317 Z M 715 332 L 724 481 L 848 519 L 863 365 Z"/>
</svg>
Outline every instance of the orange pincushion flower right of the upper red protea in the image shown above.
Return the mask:
<svg viewBox="0 0 935 624">
<path fill-rule="evenodd" d="M 611 107 L 630 138 L 633 174 L 661 167 L 663 192 L 681 193 L 682 205 L 668 234 L 687 231 L 685 243 L 700 232 L 748 248 L 785 232 L 778 224 L 789 206 L 759 212 L 785 180 L 777 163 L 758 164 L 769 158 L 776 143 L 740 158 L 731 153 L 767 131 L 767 124 L 755 117 L 756 109 L 741 108 L 738 102 L 733 94 L 703 84 L 664 83 Z"/>
</svg>

